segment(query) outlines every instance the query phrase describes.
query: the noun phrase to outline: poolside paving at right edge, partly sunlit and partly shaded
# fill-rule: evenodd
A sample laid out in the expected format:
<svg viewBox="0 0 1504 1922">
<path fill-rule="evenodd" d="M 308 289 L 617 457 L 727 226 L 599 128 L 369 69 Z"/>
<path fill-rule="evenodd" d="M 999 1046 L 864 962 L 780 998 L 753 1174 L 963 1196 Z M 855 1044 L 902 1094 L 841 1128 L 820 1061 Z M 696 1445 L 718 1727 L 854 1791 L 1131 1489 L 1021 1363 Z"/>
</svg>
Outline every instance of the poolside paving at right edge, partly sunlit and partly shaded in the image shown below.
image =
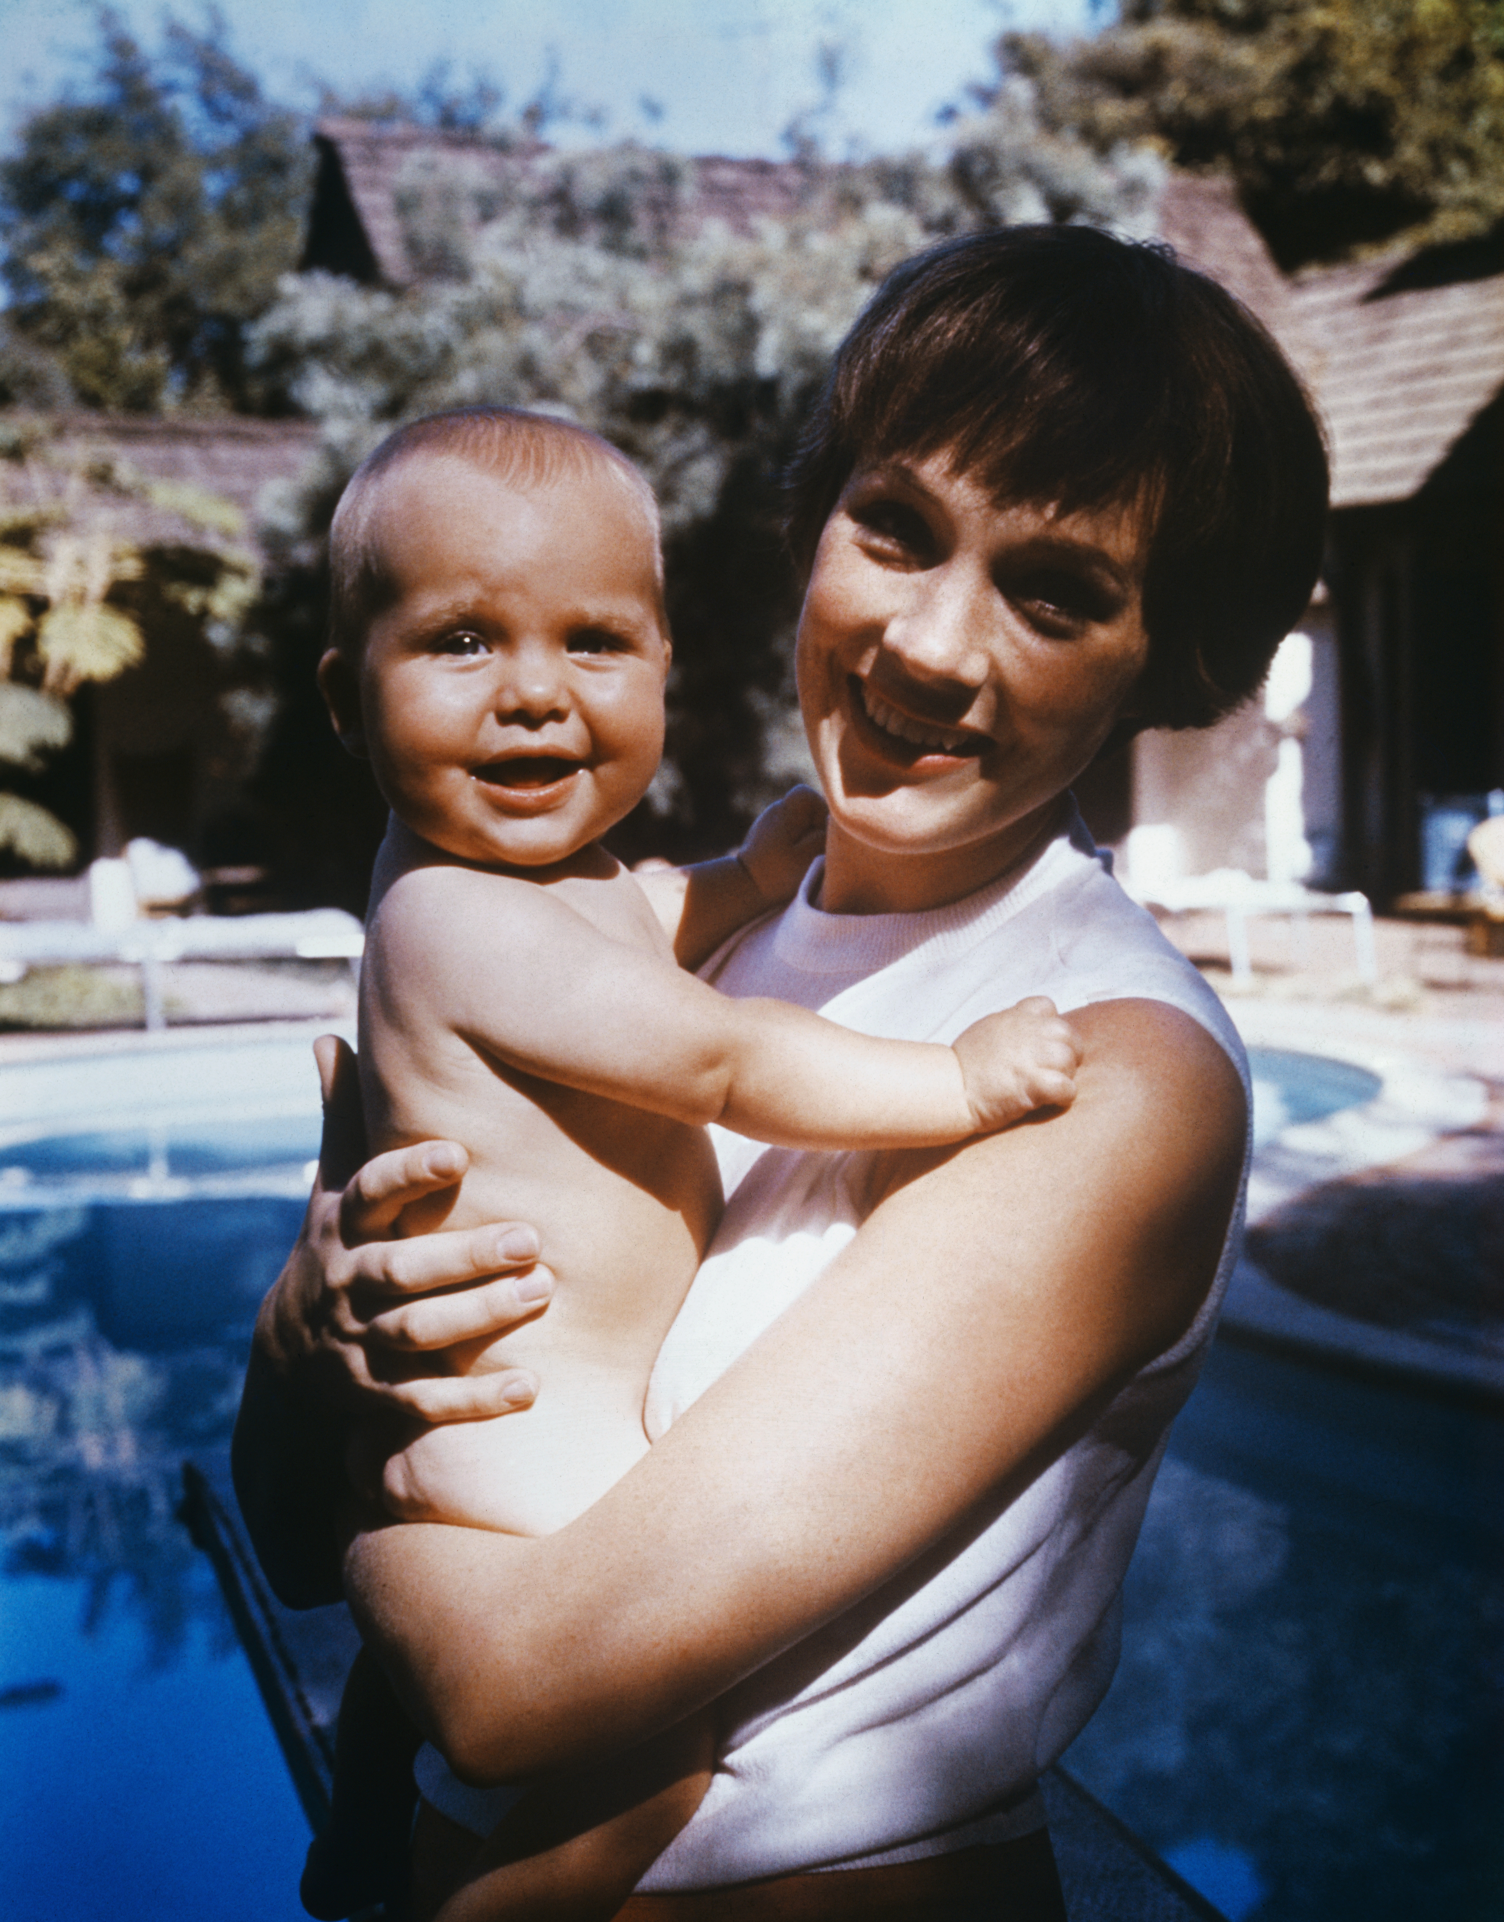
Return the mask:
<svg viewBox="0 0 1504 1922">
<path fill-rule="evenodd" d="M 1306 1128 L 1260 1155 L 1227 1334 L 1504 1405 L 1504 961 L 1469 955 L 1458 926 L 1379 921 L 1367 986 L 1337 923 L 1316 923 L 1304 955 L 1256 924 L 1254 982 L 1239 988 L 1219 917 L 1166 932 L 1244 1040 L 1387 1082 L 1383 1113 L 1325 1130 L 1354 1165 L 1327 1165 Z"/>
</svg>

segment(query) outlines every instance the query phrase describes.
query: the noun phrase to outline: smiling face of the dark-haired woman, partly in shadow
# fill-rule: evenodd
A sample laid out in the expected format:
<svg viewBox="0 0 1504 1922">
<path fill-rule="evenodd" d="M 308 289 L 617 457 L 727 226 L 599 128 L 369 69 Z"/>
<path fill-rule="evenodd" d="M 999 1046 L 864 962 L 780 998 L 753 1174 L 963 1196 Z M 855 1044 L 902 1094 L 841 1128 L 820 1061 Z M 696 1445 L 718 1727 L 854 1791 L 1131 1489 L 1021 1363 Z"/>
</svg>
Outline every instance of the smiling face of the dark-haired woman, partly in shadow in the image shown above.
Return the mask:
<svg viewBox="0 0 1504 1922">
<path fill-rule="evenodd" d="M 946 454 L 852 475 L 798 628 L 825 909 L 939 907 L 1029 851 L 1131 705 L 1144 548 L 1135 511 L 1000 507 Z"/>
</svg>

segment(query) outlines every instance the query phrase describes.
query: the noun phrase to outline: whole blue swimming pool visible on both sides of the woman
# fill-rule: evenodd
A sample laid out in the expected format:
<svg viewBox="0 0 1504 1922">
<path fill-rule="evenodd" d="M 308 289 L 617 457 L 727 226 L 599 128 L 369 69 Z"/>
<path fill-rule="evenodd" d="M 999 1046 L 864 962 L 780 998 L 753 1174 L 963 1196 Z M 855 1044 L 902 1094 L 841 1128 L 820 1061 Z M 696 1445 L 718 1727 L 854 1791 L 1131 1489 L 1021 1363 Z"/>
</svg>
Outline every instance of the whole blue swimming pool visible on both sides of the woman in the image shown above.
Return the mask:
<svg viewBox="0 0 1504 1922">
<path fill-rule="evenodd" d="M 1254 1074 L 1262 1144 L 1379 1086 L 1281 1051 Z M 229 1438 L 296 1232 L 308 1038 L 6 1069 L 0 1092 L 31 1115 L 0 1124 L 8 1885 L 69 1922 L 292 1918 L 304 1820 L 175 1505 L 183 1455 Z M 1466 1897 L 1441 1857 L 1485 1874 L 1498 1466 L 1481 1417 L 1217 1351 L 1069 1766 L 1229 1914 L 1469 1914 L 1429 1893 Z"/>
</svg>

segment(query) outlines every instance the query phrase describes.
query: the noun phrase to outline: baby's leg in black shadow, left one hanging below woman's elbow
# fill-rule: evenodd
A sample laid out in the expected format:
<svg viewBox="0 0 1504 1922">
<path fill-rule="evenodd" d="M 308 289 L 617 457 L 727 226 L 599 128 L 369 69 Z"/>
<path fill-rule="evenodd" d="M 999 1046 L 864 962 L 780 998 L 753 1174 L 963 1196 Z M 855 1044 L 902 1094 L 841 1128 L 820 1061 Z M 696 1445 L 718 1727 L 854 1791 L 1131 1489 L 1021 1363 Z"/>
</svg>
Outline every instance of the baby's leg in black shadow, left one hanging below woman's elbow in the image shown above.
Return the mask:
<svg viewBox="0 0 1504 1922">
<path fill-rule="evenodd" d="M 400 1901 L 423 1737 L 365 1649 L 344 1684 L 335 1737 L 335 1791 L 327 1824 L 308 1845 L 298 1895 L 321 1922 Z"/>
</svg>

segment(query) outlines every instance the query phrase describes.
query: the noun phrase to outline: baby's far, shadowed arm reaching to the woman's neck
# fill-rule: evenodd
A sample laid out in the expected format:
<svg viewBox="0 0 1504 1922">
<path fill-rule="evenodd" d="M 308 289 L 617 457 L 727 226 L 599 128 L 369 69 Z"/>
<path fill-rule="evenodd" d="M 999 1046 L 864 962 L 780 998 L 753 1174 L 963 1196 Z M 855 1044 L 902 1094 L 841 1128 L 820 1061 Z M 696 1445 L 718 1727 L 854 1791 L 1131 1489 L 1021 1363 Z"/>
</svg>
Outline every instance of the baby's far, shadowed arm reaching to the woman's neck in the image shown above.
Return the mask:
<svg viewBox="0 0 1504 1922">
<path fill-rule="evenodd" d="M 696 969 L 737 928 L 794 898 L 806 869 L 825 851 L 825 813 L 814 788 L 790 788 L 764 807 L 735 853 L 637 875 L 679 967 Z"/>
</svg>

